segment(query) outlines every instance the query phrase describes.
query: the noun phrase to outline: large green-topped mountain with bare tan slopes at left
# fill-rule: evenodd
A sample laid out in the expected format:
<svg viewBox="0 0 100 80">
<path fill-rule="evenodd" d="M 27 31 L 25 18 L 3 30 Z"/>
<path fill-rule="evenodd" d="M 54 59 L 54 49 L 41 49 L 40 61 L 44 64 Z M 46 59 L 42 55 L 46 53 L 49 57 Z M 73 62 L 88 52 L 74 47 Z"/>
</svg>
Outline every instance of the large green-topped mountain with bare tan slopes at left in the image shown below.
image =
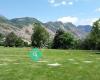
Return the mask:
<svg viewBox="0 0 100 80">
<path fill-rule="evenodd" d="M 6 36 L 8 33 L 14 32 L 23 40 L 31 41 L 34 23 L 40 23 L 42 27 L 45 27 L 42 22 L 31 17 L 14 18 L 9 20 L 3 16 L 0 16 L 0 33 Z M 50 33 L 50 35 L 54 36 L 54 33 L 51 30 L 46 27 L 45 29 Z"/>
</svg>

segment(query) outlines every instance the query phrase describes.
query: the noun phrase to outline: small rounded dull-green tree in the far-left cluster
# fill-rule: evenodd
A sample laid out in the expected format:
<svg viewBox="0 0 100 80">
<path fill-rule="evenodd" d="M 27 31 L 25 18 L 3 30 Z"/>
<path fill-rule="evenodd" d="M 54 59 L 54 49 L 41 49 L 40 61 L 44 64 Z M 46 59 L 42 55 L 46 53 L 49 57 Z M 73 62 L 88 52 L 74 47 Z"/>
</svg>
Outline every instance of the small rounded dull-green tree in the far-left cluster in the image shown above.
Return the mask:
<svg viewBox="0 0 100 80">
<path fill-rule="evenodd" d="M 11 32 L 6 36 L 5 39 L 5 46 L 9 46 L 9 47 L 13 47 L 15 46 L 17 40 L 17 36 L 15 35 L 15 33 Z"/>
</svg>

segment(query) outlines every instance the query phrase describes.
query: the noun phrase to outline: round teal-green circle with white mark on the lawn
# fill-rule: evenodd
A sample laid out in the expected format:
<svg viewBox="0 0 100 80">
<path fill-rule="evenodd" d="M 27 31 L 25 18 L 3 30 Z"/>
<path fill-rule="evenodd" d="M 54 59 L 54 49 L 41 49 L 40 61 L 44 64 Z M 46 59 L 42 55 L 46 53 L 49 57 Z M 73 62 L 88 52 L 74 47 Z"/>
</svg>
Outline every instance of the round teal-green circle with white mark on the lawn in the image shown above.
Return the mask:
<svg viewBox="0 0 100 80">
<path fill-rule="evenodd" d="M 29 56 L 33 61 L 38 61 L 42 57 L 42 52 L 38 48 L 33 48 L 29 52 Z"/>
</svg>

